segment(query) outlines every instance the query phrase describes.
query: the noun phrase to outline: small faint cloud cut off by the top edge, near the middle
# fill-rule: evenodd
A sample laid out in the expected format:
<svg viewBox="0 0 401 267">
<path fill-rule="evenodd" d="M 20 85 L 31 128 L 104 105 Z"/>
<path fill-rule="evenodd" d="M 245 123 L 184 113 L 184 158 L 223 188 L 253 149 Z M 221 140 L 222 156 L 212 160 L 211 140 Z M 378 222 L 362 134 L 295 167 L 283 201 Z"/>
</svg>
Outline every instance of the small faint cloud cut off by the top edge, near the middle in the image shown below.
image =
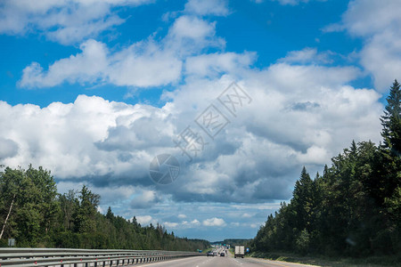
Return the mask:
<svg viewBox="0 0 401 267">
<path fill-rule="evenodd" d="M 225 16 L 228 14 L 225 0 L 189 0 L 185 4 L 185 12 L 193 12 L 199 15 Z"/>
</svg>

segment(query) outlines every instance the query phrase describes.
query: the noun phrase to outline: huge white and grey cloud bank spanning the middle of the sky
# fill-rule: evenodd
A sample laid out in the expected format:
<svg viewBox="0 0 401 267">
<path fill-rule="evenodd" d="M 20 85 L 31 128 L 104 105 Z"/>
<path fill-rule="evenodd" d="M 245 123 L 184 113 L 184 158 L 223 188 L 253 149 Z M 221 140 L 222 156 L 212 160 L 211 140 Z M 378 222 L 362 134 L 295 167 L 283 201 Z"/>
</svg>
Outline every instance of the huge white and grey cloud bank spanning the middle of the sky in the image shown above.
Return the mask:
<svg viewBox="0 0 401 267">
<path fill-rule="evenodd" d="M 191 123 L 201 132 L 193 119 L 232 82 L 230 76 L 192 77 L 168 94 L 162 108 L 85 95 L 42 109 L 1 102 L 0 122 L 15 117 L 15 123 L 0 125 L 0 134 L 19 148 L 3 162 L 45 166 L 60 181 L 139 187 L 133 209 L 155 206 L 160 192 L 173 201 L 254 203 L 289 198 L 303 165 L 321 170 L 353 139 L 380 140 L 381 95 L 344 85 L 358 69 L 284 62 L 239 69 L 239 85 L 252 101 L 215 140 L 204 136 L 209 144 L 192 164 L 173 139 Z M 160 153 L 180 160 L 179 186 L 152 188 L 149 163 Z"/>
</svg>

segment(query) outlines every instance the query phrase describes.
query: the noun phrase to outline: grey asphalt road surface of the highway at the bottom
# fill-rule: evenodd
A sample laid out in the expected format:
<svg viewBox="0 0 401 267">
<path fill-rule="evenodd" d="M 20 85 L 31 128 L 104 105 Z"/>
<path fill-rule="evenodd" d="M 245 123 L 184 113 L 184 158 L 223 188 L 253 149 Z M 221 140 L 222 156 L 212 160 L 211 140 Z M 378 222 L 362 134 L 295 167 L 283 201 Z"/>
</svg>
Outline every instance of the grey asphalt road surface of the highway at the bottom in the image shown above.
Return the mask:
<svg viewBox="0 0 401 267">
<path fill-rule="evenodd" d="M 312 265 L 297 264 L 297 263 L 282 263 L 275 261 L 267 261 L 254 258 L 236 258 L 233 256 L 196 256 L 172 260 L 162 263 L 144 263 L 139 266 L 154 266 L 154 267 L 306 267 Z M 314 266 L 315 267 L 315 266 Z"/>
</svg>

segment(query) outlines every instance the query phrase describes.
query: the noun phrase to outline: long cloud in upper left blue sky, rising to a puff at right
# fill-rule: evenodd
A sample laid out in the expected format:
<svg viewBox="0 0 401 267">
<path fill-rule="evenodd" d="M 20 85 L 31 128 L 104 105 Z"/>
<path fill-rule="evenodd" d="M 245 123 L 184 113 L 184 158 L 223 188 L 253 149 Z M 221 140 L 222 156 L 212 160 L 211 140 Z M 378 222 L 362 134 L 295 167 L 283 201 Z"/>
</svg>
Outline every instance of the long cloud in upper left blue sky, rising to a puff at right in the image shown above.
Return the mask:
<svg viewBox="0 0 401 267">
<path fill-rule="evenodd" d="M 149 87 L 175 83 L 182 74 L 184 58 L 199 53 L 206 46 L 221 47 L 215 36 L 215 23 L 196 17 L 176 19 L 168 35 L 160 42 L 152 38 L 110 53 L 102 42 L 89 39 L 79 46 L 81 53 L 54 61 L 48 69 L 32 62 L 23 69 L 19 85 L 41 88 L 70 84 L 109 83 L 121 86 Z M 232 58 L 235 56 L 232 54 Z M 238 61 L 247 61 L 237 56 Z M 228 68 L 235 60 L 225 59 L 220 66 Z"/>
</svg>

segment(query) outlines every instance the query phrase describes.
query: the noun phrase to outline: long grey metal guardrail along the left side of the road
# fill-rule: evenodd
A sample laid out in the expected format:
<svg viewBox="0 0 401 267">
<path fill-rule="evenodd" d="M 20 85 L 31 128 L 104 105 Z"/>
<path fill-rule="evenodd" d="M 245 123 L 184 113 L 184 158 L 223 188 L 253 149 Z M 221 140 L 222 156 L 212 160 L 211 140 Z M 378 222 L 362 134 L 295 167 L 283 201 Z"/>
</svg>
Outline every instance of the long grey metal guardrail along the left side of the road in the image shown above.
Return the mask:
<svg viewBox="0 0 401 267">
<path fill-rule="evenodd" d="M 71 248 L 0 248 L 0 267 L 54 266 L 105 267 L 130 266 L 140 263 L 204 255 L 196 252 L 166 250 L 118 250 Z"/>
</svg>

